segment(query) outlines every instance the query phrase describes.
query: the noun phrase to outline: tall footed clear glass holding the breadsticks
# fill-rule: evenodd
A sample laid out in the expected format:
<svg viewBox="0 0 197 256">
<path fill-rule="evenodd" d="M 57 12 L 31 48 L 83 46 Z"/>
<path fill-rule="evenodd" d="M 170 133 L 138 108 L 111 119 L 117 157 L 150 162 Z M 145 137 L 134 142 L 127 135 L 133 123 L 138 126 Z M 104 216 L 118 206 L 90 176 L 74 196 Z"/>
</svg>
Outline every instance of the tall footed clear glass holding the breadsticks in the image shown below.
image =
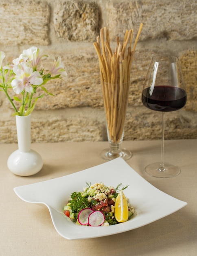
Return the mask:
<svg viewBox="0 0 197 256">
<path fill-rule="evenodd" d="M 101 83 L 109 141 L 109 148 L 101 152 L 101 157 L 105 160 L 112 160 L 117 157 L 128 160 L 131 158 L 131 152 L 122 148 L 122 142 L 130 82 L 112 84 L 101 81 Z"/>
</svg>

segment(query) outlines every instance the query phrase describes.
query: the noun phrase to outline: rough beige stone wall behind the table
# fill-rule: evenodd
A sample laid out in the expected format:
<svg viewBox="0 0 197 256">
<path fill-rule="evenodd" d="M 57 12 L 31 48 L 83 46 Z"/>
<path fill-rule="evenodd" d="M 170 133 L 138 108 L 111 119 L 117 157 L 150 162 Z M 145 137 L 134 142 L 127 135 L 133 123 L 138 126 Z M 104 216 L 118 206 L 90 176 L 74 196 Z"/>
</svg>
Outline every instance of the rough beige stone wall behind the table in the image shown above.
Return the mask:
<svg viewBox="0 0 197 256">
<path fill-rule="evenodd" d="M 161 113 L 142 105 L 141 91 L 155 54 L 179 57 L 188 101 L 166 113 L 166 139 L 197 138 L 196 0 L 1 0 L 0 51 L 6 61 L 30 46 L 61 56 L 68 76 L 47 85 L 55 96 L 37 101 L 32 142 L 106 140 L 99 62 L 93 43 L 102 27 L 111 41 L 144 24 L 131 67 L 125 140 L 160 139 Z M 0 92 L 0 143 L 17 142 L 11 104 Z"/>
</svg>

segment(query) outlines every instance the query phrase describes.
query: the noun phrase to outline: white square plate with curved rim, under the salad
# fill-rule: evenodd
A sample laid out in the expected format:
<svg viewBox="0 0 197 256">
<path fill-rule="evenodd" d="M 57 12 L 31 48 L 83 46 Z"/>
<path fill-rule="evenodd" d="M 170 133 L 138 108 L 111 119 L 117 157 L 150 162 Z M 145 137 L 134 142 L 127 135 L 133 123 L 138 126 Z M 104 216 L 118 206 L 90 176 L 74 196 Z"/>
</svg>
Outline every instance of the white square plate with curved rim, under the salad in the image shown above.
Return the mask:
<svg viewBox="0 0 197 256">
<path fill-rule="evenodd" d="M 108 227 L 76 225 L 63 214 L 63 206 L 70 199 L 72 192 L 83 191 L 85 182 L 103 182 L 106 186 L 114 187 L 119 183 L 123 186 L 129 184 L 124 194 L 136 211 L 134 217 L 127 222 Z M 18 186 L 14 191 L 26 202 L 45 204 L 57 232 L 70 240 L 109 236 L 136 229 L 159 220 L 187 204 L 152 186 L 121 158 L 53 180 Z"/>
</svg>

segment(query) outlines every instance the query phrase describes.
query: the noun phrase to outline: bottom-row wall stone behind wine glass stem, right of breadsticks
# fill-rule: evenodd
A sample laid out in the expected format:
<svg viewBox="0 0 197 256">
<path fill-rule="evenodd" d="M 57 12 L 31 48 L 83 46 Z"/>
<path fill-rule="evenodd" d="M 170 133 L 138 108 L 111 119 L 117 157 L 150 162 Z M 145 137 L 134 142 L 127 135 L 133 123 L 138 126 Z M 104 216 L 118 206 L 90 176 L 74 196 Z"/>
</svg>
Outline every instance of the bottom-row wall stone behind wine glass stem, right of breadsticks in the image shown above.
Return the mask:
<svg viewBox="0 0 197 256">
<path fill-rule="evenodd" d="M 144 106 L 127 109 L 124 140 L 161 139 L 162 113 Z M 185 108 L 165 114 L 164 139 L 197 138 L 196 113 Z"/>
</svg>

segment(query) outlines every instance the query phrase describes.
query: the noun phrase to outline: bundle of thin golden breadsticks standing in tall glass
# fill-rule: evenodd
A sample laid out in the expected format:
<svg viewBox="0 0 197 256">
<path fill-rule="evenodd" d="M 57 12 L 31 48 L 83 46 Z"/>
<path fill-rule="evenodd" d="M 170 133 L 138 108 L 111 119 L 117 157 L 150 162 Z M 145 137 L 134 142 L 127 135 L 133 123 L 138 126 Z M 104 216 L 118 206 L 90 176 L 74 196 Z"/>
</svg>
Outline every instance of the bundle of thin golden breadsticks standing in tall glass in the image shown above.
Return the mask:
<svg viewBox="0 0 197 256">
<path fill-rule="evenodd" d="M 117 46 L 114 53 L 110 47 L 109 29 L 106 27 L 101 29 L 100 37 L 98 36 L 94 42 L 99 57 L 108 136 L 112 143 L 119 143 L 123 139 L 131 62 L 142 25 L 141 23 L 132 49 L 133 29 L 126 30 L 123 43 L 120 43 L 119 37 L 116 38 Z"/>
</svg>

